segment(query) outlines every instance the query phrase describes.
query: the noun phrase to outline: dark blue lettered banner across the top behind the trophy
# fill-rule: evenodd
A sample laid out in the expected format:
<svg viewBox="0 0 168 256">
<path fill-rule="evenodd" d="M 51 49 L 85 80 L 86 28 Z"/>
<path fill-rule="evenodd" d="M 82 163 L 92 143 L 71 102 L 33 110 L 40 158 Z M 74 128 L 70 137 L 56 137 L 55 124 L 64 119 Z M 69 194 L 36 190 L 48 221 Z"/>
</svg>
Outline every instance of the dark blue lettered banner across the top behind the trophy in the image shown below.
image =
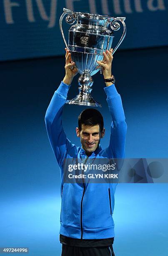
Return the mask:
<svg viewBox="0 0 168 256">
<path fill-rule="evenodd" d="M 64 7 L 126 17 L 127 35 L 120 49 L 168 45 L 167 0 L 1 0 L 0 60 L 62 55 L 59 19 Z M 65 22 L 67 40 L 69 27 Z M 115 31 L 113 48 L 122 30 Z"/>
</svg>

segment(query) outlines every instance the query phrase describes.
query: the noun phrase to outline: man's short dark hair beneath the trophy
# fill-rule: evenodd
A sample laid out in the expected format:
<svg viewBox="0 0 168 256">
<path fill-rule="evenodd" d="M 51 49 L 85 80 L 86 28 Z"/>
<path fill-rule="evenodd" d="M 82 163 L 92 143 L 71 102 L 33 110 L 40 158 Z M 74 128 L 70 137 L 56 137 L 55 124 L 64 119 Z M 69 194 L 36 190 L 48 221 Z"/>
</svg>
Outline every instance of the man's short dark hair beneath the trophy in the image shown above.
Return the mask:
<svg viewBox="0 0 168 256">
<path fill-rule="evenodd" d="M 102 132 L 104 128 L 103 116 L 98 110 L 94 108 L 87 108 L 78 116 L 79 131 L 81 130 L 82 124 L 90 126 L 99 125 L 100 132 Z"/>
</svg>

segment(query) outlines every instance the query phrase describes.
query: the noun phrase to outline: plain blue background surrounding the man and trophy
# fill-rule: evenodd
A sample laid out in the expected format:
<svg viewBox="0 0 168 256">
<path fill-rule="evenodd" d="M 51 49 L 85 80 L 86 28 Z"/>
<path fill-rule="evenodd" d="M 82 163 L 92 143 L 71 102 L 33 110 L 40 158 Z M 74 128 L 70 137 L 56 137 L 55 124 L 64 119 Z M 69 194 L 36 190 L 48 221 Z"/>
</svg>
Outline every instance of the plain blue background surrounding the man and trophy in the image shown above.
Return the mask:
<svg viewBox="0 0 168 256">
<path fill-rule="evenodd" d="M 3 2 L 0 2 L 2 13 Z M 13 59 L 0 63 L 0 247 L 24 246 L 29 247 L 30 256 L 60 256 L 60 173 L 48 141 L 44 116 L 64 77 L 64 44 L 56 28 L 58 23 L 50 28 L 54 33 L 48 32 L 48 21 L 41 20 L 36 11 L 39 22 L 30 24 L 24 13 L 25 1 L 15 2 L 22 7 L 13 7 L 14 24 L 7 26 L 4 15 L 0 15 L 3 25 L 0 58 Z M 84 1 L 74 3 L 75 10 L 88 10 Z M 64 6 L 58 4 L 58 20 Z M 97 1 L 96 6 L 100 13 Z M 166 10 L 146 10 L 143 14 L 123 12 L 120 16 L 124 15 L 130 24 L 123 50 L 114 55 L 113 74 L 128 125 L 125 157 L 166 158 L 168 46 L 163 47 L 168 42 Z M 143 19 L 142 15 L 145 15 Z M 145 49 L 147 46 L 154 47 Z M 50 57 L 30 59 L 35 56 Z M 78 92 L 77 79 L 78 75 L 68 99 Z M 98 73 L 93 79 L 92 95 L 103 105 L 98 110 L 105 121 L 105 137 L 101 141 L 105 147 L 109 143 L 111 118 L 103 77 Z M 77 146 L 80 141 L 75 127 L 83 108 L 65 105 L 63 112 L 67 137 Z M 167 256 L 167 198 L 168 184 L 118 184 L 113 215 L 116 256 Z"/>
</svg>

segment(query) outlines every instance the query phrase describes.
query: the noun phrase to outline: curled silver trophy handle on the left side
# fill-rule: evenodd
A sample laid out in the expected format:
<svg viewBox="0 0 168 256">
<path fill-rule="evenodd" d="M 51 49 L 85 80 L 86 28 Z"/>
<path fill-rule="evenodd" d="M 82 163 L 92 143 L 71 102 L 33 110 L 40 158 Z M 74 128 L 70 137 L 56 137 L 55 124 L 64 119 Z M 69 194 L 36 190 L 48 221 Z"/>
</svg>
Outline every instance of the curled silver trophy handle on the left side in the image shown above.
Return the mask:
<svg viewBox="0 0 168 256">
<path fill-rule="evenodd" d="M 65 39 L 65 36 L 64 36 L 64 33 L 63 33 L 63 27 L 62 27 L 63 18 L 64 18 L 64 16 L 65 16 L 66 14 L 69 14 L 69 15 L 66 17 L 66 22 L 67 22 L 68 24 L 73 24 L 73 23 L 75 22 L 75 20 L 76 20 L 76 15 L 75 15 L 75 13 L 73 13 L 71 10 L 68 10 L 68 9 L 65 9 L 65 8 L 63 8 L 63 11 L 64 11 L 63 14 L 60 16 L 60 23 L 59 23 L 59 25 L 60 25 L 60 31 L 61 31 L 62 36 L 63 36 L 63 40 L 64 40 L 64 42 L 65 42 L 65 45 L 66 45 L 67 49 L 68 49 L 68 44 L 67 44 L 67 41 L 66 41 L 66 39 Z"/>
</svg>

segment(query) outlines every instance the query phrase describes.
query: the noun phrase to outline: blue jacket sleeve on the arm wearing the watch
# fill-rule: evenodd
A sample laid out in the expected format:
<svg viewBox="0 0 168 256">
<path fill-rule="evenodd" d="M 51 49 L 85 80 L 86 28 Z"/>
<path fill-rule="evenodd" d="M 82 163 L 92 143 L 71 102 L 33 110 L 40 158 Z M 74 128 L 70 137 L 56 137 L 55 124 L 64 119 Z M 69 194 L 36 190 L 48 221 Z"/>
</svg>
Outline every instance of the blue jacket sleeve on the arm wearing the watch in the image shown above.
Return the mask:
<svg viewBox="0 0 168 256">
<path fill-rule="evenodd" d="M 108 156 L 110 158 L 124 158 L 127 124 L 125 123 L 121 97 L 114 84 L 105 87 L 104 90 L 107 95 L 108 108 L 112 117 L 110 143 L 107 148 Z"/>
</svg>

